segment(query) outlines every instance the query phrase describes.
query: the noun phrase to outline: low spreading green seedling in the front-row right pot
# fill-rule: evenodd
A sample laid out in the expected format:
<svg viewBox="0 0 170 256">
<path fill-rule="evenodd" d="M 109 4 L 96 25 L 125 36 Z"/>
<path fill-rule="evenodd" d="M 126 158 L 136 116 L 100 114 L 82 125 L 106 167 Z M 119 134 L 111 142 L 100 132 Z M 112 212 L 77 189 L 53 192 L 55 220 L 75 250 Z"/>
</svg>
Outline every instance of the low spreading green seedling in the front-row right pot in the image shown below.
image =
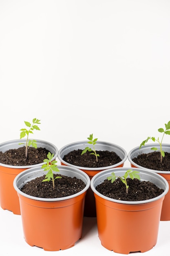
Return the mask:
<svg viewBox="0 0 170 256">
<path fill-rule="evenodd" d="M 131 169 L 129 169 L 129 170 L 127 170 L 126 171 L 126 173 L 123 175 L 123 176 L 116 176 L 115 175 L 115 173 L 111 173 L 111 176 L 109 176 L 109 177 L 107 177 L 107 179 L 108 180 L 111 180 L 111 182 L 113 183 L 115 180 L 116 180 L 116 177 L 117 178 L 120 178 L 121 179 L 121 181 L 126 185 L 126 193 L 128 193 L 128 188 L 129 188 L 129 186 L 128 186 L 128 184 L 127 184 L 127 178 L 128 178 L 128 176 L 130 177 L 130 179 L 138 179 L 138 180 L 140 180 L 141 178 L 140 178 L 140 176 L 139 176 L 139 174 L 137 174 L 137 173 L 139 173 L 139 171 L 133 171 L 133 170 L 131 170 Z"/>
</svg>

